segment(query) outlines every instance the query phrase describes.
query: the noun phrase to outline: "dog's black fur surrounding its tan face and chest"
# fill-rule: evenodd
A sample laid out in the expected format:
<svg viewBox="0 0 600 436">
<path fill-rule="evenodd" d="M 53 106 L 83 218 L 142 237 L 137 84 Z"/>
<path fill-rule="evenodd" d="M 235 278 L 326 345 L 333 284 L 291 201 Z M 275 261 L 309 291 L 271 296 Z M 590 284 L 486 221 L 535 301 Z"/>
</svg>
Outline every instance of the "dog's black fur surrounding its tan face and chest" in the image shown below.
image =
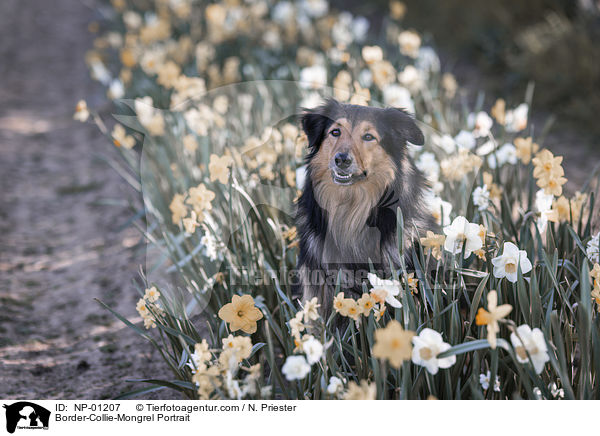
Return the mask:
<svg viewBox="0 0 600 436">
<path fill-rule="evenodd" d="M 399 267 L 398 251 L 394 248 L 397 247 L 396 211 L 398 207 L 402 211 L 404 219 L 405 238 L 410 237 L 409 235 L 414 236 L 415 228 L 419 232 L 423 232 L 436 227 L 433 217 L 422 204 L 423 191 L 427 187 L 426 180 L 407 154 L 407 141 L 415 145 L 424 143 L 423 133 L 410 115 L 401 109 L 341 104 L 335 100 L 329 100 L 317 109 L 306 111 L 302 116 L 302 127 L 308 137 L 309 152 L 306 157 L 306 182 L 297 211 L 297 229 L 300 238 L 298 268 L 305 274 L 300 276 L 301 283 L 297 294 L 303 293 L 305 299 L 312 296 L 319 297 L 326 312 L 331 309 L 335 279 L 340 269 L 351 271 L 355 274 L 354 277 L 361 277 L 362 274 L 364 278 L 370 269 L 366 261 L 331 264 L 323 260 L 324 244 L 328 233 L 328 215 L 315 198 L 311 162 L 319 151 L 328 127 L 334 120 L 342 117 L 349 119 L 353 124 L 362 120 L 368 120 L 375 124 L 381 135 L 380 144 L 398 168 L 393 182 L 378 199 L 364 223 L 365 228 L 376 228 L 380 235 L 379 247 L 382 252 L 379 253 L 379 257 L 382 262 L 374 265 L 375 268 L 389 271 L 389 261 L 394 264 L 394 267 Z M 340 187 L 340 189 L 344 189 L 344 187 Z M 390 255 L 394 251 L 396 252 L 395 258 L 394 255 Z M 410 267 L 412 255 L 408 251 L 406 250 L 405 260 L 406 265 Z M 373 253 L 364 253 L 365 260 L 372 257 Z M 329 282 L 323 286 L 308 284 L 306 283 L 307 273 L 323 274 L 329 278 Z M 307 291 L 307 289 L 309 290 Z M 355 294 L 353 296 L 356 297 L 356 295 L 362 294 L 362 284 L 360 281 L 345 283 L 342 284 L 342 290 L 346 293 L 353 293 Z"/>
</svg>

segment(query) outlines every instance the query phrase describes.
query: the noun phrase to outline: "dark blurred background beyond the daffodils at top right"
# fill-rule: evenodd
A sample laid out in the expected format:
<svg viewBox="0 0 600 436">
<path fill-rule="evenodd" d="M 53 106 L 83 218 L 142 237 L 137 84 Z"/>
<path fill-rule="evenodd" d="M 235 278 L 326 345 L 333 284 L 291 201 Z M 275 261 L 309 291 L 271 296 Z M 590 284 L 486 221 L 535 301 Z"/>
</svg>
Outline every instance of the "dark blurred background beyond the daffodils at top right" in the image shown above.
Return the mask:
<svg viewBox="0 0 600 436">
<path fill-rule="evenodd" d="M 600 124 L 600 2 L 405 0 L 404 23 L 437 48 L 460 86 L 515 101 L 535 84 L 534 112 L 593 133 Z M 386 0 L 336 1 L 377 20 Z"/>
</svg>

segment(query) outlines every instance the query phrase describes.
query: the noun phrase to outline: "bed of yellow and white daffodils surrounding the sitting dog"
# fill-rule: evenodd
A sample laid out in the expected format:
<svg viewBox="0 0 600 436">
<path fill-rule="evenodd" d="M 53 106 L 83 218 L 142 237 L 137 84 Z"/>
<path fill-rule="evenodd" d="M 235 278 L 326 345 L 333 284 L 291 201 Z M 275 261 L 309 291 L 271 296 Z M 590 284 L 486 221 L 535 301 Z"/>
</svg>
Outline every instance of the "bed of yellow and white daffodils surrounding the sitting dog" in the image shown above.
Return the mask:
<svg viewBox="0 0 600 436">
<path fill-rule="evenodd" d="M 600 397 L 598 180 L 563 192 L 527 103 L 457 101 L 398 2 L 380 29 L 325 0 L 112 6 L 87 62 L 122 99 L 120 123 L 94 117 L 136 175 L 119 166 L 149 241 L 143 326 L 115 315 L 173 371 L 131 395 Z M 323 97 L 416 115 L 426 146 L 410 152 L 443 229 L 420 239 L 414 271 L 370 274 L 327 319 L 289 280 L 306 148 L 294 116 Z"/>
</svg>

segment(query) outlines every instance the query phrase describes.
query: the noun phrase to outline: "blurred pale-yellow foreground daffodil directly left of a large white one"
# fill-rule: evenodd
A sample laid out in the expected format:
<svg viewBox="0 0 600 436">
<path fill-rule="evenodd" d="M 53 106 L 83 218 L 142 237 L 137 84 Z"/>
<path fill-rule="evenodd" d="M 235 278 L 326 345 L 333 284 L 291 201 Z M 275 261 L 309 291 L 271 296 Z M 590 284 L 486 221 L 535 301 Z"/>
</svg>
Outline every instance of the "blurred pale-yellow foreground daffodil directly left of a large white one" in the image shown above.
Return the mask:
<svg viewBox="0 0 600 436">
<path fill-rule="evenodd" d="M 415 333 L 404 330 L 398 321 L 391 320 L 383 329 L 375 330 L 373 356 L 388 360 L 394 368 L 400 368 L 402 362 L 411 358 L 411 340 Z"/>
</svg>

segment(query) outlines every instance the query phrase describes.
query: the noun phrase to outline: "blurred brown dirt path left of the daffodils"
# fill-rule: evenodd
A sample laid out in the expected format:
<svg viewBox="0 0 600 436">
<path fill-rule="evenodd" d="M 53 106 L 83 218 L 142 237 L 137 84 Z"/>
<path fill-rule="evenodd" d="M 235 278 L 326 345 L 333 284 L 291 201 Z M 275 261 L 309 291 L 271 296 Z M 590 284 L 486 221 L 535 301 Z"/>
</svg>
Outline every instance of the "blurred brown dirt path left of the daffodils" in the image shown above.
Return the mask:
<svg viewBox="0 0 600 436">
<path fill-rule="evenodd" d="M 130 212 L 99 204 L 133 196 L 97 158 L 113 150 L 72 120 L 78 99 L 103 102 L 83 63 L 93 17 L 73 0 L 0 3 L 0 398 L 110 398 L 168 377 L 93 301 L 135 317 L 143 261 L 138 232 L 116 230 Z"/>
</svg>

